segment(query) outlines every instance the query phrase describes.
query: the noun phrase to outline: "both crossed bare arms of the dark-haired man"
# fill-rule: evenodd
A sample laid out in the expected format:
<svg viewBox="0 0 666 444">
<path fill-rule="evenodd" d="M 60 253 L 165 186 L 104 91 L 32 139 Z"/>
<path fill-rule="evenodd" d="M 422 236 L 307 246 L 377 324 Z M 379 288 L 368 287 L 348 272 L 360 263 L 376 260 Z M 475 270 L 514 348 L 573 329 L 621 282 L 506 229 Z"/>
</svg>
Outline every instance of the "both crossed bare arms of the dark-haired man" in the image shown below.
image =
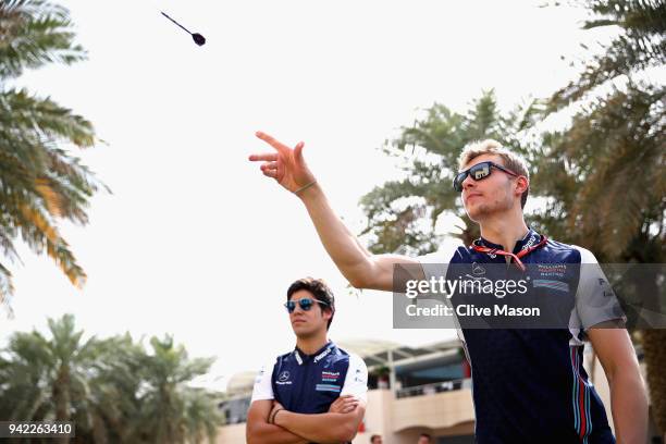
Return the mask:
<svg viewBox="0 0 666 444">
<path fill-rule="evenodd" d="M 247 415 L 246 439 L 248 444 L 348 442 L 365 412 L 365 403 L 351 395 L 338 397 L 328 412 L 314 415 L 288 411 L 272 399 L 255 400 Z M 269 423 L 269 418 L 274 422 Z"/>
</svg>

